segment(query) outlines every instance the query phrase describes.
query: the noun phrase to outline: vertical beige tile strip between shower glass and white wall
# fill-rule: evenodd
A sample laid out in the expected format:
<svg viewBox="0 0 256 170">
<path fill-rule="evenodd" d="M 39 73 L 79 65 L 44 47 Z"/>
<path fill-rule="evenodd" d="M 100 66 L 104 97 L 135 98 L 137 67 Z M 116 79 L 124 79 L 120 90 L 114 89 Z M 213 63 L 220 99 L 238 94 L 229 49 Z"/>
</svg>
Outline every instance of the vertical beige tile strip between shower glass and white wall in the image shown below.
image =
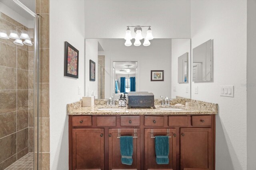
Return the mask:
<svg viewBox="0 0 256 170">
<path fill-rule="evenodd" d="M 40 78 L 41 114 L 39 116 L 40 133 L 39 165 L 42 170 L 50 169 L 50 114 L 49 114 L 49 0 L 36 0 L 36 14 L 42 16 L 40 33 Z"/>
</svg>

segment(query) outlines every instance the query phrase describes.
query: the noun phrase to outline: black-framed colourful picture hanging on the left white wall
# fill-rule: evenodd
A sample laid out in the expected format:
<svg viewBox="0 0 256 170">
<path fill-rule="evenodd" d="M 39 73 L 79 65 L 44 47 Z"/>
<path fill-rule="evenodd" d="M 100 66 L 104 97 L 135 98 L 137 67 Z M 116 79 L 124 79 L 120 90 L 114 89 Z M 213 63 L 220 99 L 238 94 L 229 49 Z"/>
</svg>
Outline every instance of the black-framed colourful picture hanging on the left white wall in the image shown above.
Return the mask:
<svg viewBox="0 0 256 170">
<path fill-rule="evenodd" d="M 65 41 L 65 66 L 64 76 L 78 78 L 79 51 Z"/>
</svg>

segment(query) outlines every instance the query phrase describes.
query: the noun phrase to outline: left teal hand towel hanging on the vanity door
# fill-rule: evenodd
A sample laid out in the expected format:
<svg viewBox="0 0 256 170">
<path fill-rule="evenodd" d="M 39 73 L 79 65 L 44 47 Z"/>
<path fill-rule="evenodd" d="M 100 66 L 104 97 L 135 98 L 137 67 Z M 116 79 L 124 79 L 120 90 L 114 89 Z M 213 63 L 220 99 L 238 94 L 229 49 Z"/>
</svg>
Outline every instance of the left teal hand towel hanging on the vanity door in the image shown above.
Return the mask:
<svg viewBox="0 0 256 170">
<path fill-rule="evenodd" d="M 120 151 L 122 164 L 132 165 L 133 139 L 132 136 L 120 137 Z"/>
</svg>

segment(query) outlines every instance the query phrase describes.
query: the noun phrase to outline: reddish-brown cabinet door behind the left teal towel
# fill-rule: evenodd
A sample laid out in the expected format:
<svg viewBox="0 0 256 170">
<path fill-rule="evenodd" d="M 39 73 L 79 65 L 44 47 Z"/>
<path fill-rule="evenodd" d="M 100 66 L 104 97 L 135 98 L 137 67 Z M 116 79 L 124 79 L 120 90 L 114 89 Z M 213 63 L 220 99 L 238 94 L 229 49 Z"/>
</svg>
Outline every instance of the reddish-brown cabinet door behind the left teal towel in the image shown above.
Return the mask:
<svg viewBox="0 0 256 170">
<path fill-rule="evenodd" d="M 121 136 L 134 136 L 134 129 L 120 129 Z M 140 170 L 140 129 L 137 129 L 137 138 L 133 138 L 132 165 L 122 164 L 120 152 L 120 138 L 118 129 L 109 129 L 109 170 Z"/>
</svg>

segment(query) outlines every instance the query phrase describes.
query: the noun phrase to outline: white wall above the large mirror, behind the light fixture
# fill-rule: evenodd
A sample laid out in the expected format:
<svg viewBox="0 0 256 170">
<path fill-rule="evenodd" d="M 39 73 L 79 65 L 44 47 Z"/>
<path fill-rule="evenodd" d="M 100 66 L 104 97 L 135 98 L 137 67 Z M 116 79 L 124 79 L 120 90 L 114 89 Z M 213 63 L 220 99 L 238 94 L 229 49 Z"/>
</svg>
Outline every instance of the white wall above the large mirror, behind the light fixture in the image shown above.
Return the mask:
<svg viewBox="0 0 256 170">
<path fill-rule="evenodd" d="M 150 25 L 155 38 L 190 38 L 190 1 L 85 1 L 86 38 L 124 38 L 128 25 Z"/>
</svg>

